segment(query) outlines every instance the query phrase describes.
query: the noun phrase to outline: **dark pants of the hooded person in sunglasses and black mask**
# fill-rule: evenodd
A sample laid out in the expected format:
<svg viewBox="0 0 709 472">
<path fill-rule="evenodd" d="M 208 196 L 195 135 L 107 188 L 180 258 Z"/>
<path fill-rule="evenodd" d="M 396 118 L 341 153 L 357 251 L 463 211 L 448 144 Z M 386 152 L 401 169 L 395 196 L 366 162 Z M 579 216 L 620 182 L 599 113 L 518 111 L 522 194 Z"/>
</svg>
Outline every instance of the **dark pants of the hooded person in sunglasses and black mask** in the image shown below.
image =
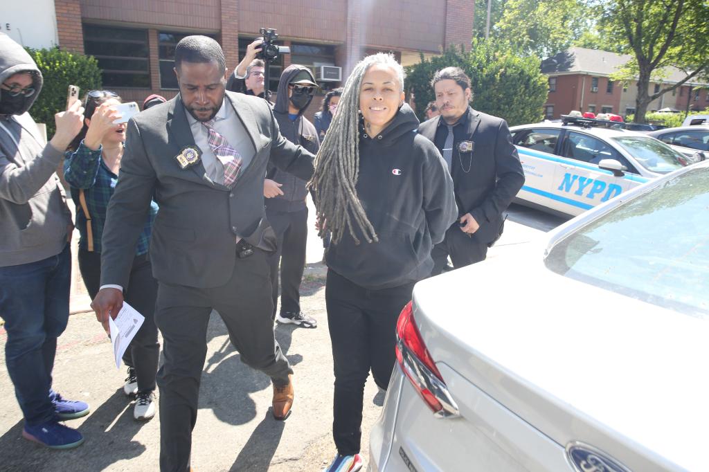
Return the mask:
<svg viewBox="0 0 709 472">
<path fill-rule="evenodd" d="M 281 265 L 280 313 L 301 312 L 301 281 L 306 266 L 308 240 L 308 208 L 291 213 L 266 210 L 266 218 L 278 238 L 278 249 L 270 257 L 273 284 L 272 319 L 275 319 L 278 305 L 279 262 Z"/>
</svg>

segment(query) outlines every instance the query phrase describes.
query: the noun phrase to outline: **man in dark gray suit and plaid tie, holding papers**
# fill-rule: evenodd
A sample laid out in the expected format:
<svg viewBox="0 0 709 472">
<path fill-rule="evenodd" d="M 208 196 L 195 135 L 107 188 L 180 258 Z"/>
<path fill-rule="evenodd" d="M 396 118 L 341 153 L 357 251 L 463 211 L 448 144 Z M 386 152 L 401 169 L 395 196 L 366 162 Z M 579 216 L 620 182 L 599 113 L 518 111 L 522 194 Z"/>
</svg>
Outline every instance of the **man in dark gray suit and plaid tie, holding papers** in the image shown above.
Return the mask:
<svg viewBox="0 0 709 472">
<path fill-rule="evenodd" d="M 216 41 L 188 36 L 175 49 L 180 93 L 128 123 L 116 193 L 108 206 L 99 321 L 123 304 L 135 242 L 150 199 L 160 205 L 150 243 L 159 282 L 155 322 L 164 339 L 160 469 L 189 471 L 206 330 L 218 310 L 241 360 L 274 385 L 273 415 L 293 403 L 293 371 L 274 339 L 268 253 L 276 237 L 264 215 L 268 162 L 301 179 L 313 154 L 286 140 L 267 101 L 225 92 Z"/>
</svg>

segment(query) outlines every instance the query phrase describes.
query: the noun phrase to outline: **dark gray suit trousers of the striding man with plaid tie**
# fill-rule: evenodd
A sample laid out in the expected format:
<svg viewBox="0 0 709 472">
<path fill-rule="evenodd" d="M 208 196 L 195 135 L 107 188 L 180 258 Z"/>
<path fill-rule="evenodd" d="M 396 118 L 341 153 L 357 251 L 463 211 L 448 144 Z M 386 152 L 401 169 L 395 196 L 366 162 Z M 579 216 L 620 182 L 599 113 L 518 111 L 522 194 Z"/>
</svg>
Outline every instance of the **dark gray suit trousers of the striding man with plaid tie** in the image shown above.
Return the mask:
<svg viewBox="0 0 709 472">
<path fill-rule="evenodd" d="M 199 384 L 207 352 L 206 334 L 217 310 L 241 361 L 287 384 L 293 373 L 274 337 L 271 282 L 267 254 L 254 248 L 236 259 L 223 286 L 195 288 L 162 283 L 157 291 L 155 322 L 162 332 L 164 363 L 157 373 L 160 388 L 160 470 L 189 471 L 192 429 L 197 421 Z M 238 378 L 225 378 L 238 382 Z M 225 448 L 228 444 L 225 444 Z"/>
</svg>

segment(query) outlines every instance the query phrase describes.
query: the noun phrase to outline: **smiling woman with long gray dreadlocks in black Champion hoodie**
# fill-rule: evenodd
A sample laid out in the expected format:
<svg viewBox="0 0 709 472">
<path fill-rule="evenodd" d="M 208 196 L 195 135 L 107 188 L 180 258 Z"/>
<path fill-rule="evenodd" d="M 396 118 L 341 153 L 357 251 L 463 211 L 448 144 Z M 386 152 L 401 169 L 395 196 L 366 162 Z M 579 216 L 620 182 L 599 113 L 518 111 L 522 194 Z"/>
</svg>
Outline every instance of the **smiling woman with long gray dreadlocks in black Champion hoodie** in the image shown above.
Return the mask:
<svg viewBox="0 0 709 472">
<path fill-rule="evenodd" d="M 330 230 L 325 302 L 335 364 L 333 437 L 326 471 L 354 472 L 364 383 L 383 389 L 394 364 L 398 314 L 430 274 L 432 245 L 456 220 L 453 183 L 403 103 L 403 67 L 376 54 L 354 67 L 316 158 L 320 232 Z"/>
</svg>

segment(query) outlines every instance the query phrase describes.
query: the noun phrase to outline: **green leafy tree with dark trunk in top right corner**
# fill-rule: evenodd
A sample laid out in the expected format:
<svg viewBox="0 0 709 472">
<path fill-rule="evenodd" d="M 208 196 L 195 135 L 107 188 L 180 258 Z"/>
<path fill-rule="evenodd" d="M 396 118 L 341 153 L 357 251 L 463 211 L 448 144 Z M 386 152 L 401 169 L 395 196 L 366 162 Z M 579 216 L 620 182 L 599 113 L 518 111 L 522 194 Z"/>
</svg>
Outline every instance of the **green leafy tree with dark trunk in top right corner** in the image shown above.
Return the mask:
<svg viewBox="0 0 709 472">
<path fill-rule="evenodd" d="M 651 101 L 693 77 L 709 75 L 708 1 L 603 0 L 601 8 L 601 27 L 633 56 L 613 79 L 637 78 L 636 123 L 645 122 Z M 650 94 L 650 82 L 666 77 L 669 67 L 680 69 L 685 77 Z"/>
</svg>

